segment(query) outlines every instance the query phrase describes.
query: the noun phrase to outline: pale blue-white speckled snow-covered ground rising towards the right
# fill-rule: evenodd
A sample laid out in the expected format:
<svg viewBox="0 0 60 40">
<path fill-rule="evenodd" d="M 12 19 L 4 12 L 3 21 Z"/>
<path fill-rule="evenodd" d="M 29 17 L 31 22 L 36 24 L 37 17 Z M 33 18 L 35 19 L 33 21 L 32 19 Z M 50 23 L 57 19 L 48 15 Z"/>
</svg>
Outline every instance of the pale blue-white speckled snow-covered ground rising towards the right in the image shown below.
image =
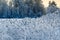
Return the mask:
<svg viewBox="0 0 60 40">
<path fill-rule="evenodd" d="M 0 40 L 60 40 L 60 13 L 41 18 L 0 19 Z"/>
</svg>

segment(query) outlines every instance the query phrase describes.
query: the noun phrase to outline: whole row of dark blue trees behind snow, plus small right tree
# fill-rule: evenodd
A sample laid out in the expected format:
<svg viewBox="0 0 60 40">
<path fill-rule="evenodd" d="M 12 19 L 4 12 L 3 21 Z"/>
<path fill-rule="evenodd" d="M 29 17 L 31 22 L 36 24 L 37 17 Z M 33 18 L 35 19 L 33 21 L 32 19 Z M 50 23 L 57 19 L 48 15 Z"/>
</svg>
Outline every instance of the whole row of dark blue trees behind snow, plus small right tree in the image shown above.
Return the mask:
<svg viewBox="0 0 60 40">
<path fill-rule="evenodd" d="M 5 0 L 0 0 L 0 18 L 41 17 L 46 14 L 42 3 L 42 0 L 12 0 L 8 6 Z M 47 9 L 51 13 L 56 11 L 56 3 L 49 1 Z"/>
</svg>

